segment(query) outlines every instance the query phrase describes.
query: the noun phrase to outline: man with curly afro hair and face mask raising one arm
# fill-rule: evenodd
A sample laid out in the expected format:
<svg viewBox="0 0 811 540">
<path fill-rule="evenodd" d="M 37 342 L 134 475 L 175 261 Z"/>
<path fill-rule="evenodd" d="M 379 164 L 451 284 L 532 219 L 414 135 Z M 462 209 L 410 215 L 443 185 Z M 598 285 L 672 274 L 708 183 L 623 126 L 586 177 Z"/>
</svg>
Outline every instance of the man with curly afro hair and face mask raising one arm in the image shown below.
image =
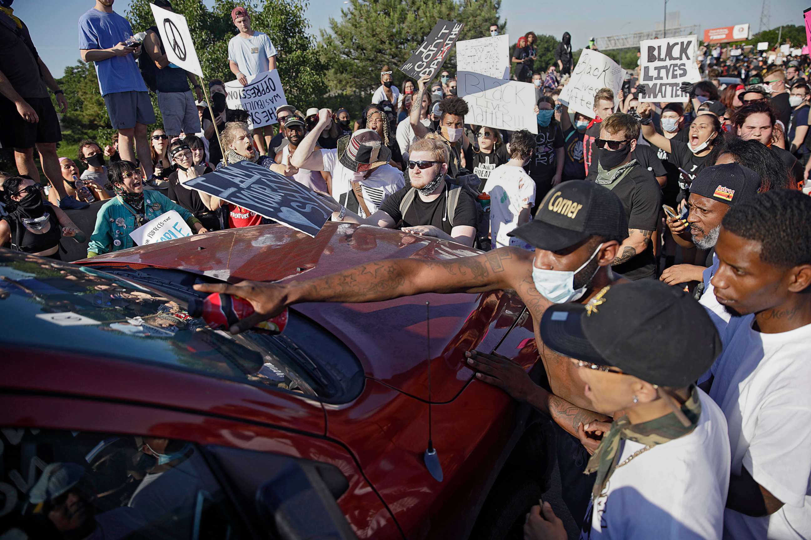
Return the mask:
<svg viewBox="0 0 811 540">
<path fill-rule="evenodd" d="M 423 95 L 427 91 L 428 83 L 431 79 L 423 77 L 419 79 L 419 91 L 414 100 L 422 103 Z M 448 175 L 455 178 L 460 168 L 466 168 L 472 159 L 467 159 L 466 152 L 470 151 L 470 141 L 465 134 L 465 115 L 468 112 L 467 103 L 461 97 L 448 96 L 440 101 L 440 125 L 436 130 L 437 134 L 444 139 L 448 145 L 450 159 L 448 161 Z M 420 121 L 420 111 L 416 107 L 411 108 L 409 121 L 411 129 L 414 130 L 414 138 L 424 137 L 428 133 L 428 128 Z"/>
</svg>

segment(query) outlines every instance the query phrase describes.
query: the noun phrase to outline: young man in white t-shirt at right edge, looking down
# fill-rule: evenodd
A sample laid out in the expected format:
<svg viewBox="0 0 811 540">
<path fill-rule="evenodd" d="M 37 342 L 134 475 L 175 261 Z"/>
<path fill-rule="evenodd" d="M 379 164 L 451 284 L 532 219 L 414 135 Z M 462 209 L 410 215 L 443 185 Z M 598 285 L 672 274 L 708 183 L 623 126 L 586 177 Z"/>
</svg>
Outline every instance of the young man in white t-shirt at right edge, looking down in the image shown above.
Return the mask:
<svg viewBox="0 0 811 540">
<path fill-rule="evenodd" d="M 732 447 L 723 535 L 809 538 L 811 198 L 772 189 L 732 207 L 715 254 L 732 315 L 706 383 Z"/>
</svg>

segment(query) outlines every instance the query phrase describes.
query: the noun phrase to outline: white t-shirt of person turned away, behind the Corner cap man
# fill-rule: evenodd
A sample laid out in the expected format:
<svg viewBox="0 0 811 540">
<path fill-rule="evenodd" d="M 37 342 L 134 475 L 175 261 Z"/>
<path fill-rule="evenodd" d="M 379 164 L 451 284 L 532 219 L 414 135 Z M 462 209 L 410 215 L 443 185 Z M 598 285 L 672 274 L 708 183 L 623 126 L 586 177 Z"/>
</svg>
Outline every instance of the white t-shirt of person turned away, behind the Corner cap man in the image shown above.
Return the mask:
<svg viewBox="0 0 811 540">
<path fill-rule="evenodd" d="M 535 182 L 524 168 L 512 165 L 499 165 L 490 173 L 484 185 L 484 193 L 490 195 L 490 236 L 493 249 L 512 245 L 523 246 L 518 238 L 507 236 L 518 227 L 518 214 L 521 206 L 530 207 L 535 203 Z"/>
</svg>

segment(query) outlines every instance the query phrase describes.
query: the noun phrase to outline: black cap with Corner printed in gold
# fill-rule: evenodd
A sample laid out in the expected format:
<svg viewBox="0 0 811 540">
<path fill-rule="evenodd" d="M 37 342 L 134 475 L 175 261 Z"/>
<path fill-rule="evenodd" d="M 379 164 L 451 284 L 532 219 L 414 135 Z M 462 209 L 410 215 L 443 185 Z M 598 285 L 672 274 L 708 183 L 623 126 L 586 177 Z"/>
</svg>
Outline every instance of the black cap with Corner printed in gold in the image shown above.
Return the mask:
<svg viewBox="0 0 811 540">
<path fill-rule="evenodd" d="M 594 235 L 622 241 L 628 237 L 628 218 L 616 194 L 586 180 L 552 188 L 534 219 L 508 233 L 546 251 L 569 248 Z"/>
</svg>

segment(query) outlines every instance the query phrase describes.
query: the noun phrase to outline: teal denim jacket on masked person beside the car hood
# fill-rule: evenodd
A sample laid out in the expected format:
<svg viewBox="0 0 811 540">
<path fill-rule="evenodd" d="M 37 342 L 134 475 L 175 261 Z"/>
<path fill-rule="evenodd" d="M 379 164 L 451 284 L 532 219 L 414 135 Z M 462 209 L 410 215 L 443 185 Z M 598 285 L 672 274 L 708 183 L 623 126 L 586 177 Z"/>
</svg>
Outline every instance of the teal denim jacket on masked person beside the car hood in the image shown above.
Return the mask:
<svg viewBox="0 0 811 540">
<path fill-rule="evenodd" d="M 155 219 L 169 210 L 176 210 L 186 220 L 192 231 L 194 230 L 193 225 L 200 221 L 191 215 L 189 210 L 171 202 L 163 193 L 152 189 L 144 189 L 144 202 L 146 203 L 147 221 Z M 88 244 L 88 257 L 134 247 L 135 242 L 132 241 L 130 233 L 136 228 L 138 225 L 135 224 L 135 215 L 124 205 L 121 198 L 109 199 L 101 206 L 96 217 L 96 229 L 90 236 Z"/>
</svg>

